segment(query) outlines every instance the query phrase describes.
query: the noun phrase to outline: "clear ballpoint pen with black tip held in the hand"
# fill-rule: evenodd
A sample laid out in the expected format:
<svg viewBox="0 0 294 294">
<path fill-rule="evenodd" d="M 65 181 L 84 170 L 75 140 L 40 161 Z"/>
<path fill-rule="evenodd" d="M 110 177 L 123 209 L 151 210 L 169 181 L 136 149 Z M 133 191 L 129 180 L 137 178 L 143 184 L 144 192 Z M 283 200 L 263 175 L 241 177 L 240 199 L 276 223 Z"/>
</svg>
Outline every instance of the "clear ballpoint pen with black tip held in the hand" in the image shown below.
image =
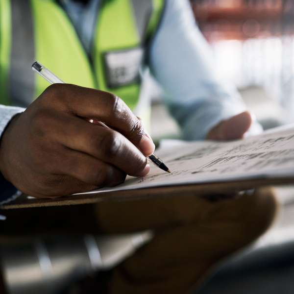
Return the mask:
<svg viewBox="0 0 294 294">
<path fill-rule="evenodd" d="M 32 65 L 32 70 L 39 73 L 42 77 L 44 77 L 47 81 L 49 81 L 50 84 L 64 84 L 64 81 L 62 81 L 60 78 L 58 78 L 54 73 L 49 71 L 45 66 L 43 66 L 38 61 L 35 61 Z M 93 122 L 93 120 L 90 120 L 90 122 Z M 104 127 L 108 126 L 105 123 L 99 122 Z M 155 154 L 151 154 L 148 156 L 148 158 L 160 169 L 162 169 L 165 172 L 171 172 L 169 168 L 163 163 L 163 161 L 157 157 Z"/>
</svg>

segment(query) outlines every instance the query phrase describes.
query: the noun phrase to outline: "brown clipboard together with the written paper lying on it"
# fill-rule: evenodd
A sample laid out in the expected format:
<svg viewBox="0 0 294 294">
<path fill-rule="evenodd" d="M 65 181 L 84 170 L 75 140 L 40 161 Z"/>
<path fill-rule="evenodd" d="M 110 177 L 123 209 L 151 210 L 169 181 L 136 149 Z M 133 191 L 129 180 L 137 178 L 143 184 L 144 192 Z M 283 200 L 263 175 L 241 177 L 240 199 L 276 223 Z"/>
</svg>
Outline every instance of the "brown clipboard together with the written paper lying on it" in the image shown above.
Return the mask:
<svg viewBox="0 0 294 294">
<path fill-rule="evenodd" d="M 158 170 L 151 169 L 146 179 L 127 179 L 118 187 L 90 194 L 51 199 L 22 195 L 0 206 L 0 209 L 127 201 L 146 197 L 225 195 L 266 186 L 294 184 L 294 125 L 232 142 L 180 143 L 173 148 L 162 147 L 161 150 L 169 167 L 172 165 L 172 173 L 158 174 Z M 159 152 L 157 154 L 160 156 Z M 268 162 L 270 167 L 264 169 Z M 228 168 L 227 176 L 223 177 L 223 171 Z"/>
</svg>

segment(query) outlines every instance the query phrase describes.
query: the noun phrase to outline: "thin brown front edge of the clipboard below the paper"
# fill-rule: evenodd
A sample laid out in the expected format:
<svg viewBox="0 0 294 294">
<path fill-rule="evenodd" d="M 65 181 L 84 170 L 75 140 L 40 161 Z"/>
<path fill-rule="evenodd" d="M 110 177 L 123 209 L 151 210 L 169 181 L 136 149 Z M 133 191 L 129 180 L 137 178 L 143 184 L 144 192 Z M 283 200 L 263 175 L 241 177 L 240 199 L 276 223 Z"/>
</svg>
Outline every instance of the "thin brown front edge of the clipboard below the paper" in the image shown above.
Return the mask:
<svg viewBox="0 0 294 294">
<path fill-rule="evenodd" d="M 237 193 L 240 191 L 256 189 L 267 186 L 280 186 L 294 184 L 294 176 L 281 178 L 254 178 L 230 182 L 208 182 L 191 185 L 177 185 L 168 187 L 154 187 L 135 190 L 120 190 L 99 192 L 94 194 L 80 194 L 63 196 L 59 198 L 33 198 L 22 195 L 16 200 L 1 205 L 0 209 L 20 209 L 33 207 L 65 206 L 79 204 L 93 204 L 102 201 L 127 201 L 134 199 L 169 197 L 181 195 L 210 196 Z"/>
</svg>

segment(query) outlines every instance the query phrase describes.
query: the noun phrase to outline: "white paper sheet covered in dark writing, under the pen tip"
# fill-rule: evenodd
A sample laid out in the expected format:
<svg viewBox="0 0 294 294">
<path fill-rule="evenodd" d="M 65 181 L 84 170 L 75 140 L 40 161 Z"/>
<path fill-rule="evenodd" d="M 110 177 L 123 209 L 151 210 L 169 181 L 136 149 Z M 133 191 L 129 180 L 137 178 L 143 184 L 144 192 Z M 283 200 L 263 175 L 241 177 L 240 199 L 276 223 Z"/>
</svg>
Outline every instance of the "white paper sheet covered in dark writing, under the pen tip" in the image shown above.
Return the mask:
<svg viewBox="0 0 294 294">
<path fill-rule="evenodd" d="M 170 147 L 171 146 L 171 147 Z M 151 164 L 144 178 L 88 193 L 294 175 L 294 125 L 230 142 L 175 142 L 156 151 L 171 173 Z"/>
</svg>

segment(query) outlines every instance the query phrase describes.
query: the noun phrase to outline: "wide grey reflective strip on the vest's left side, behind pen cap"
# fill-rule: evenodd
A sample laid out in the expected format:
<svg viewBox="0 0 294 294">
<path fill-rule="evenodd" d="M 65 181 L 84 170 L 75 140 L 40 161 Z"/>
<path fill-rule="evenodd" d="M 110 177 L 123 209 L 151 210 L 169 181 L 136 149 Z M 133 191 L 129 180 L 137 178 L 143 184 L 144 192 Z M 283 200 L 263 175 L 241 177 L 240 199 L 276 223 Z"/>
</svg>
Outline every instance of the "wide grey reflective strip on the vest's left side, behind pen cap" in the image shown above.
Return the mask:
<svg viewBox="0 0 294 294">
<path fill-rule="evenodd" d="M 35 91 L 35 76 L 31 70 L 35 45 L 30 1 L 11 0 L 11 19 L 9 95 L 13 104 L 27 106 Z"/>
</svg>

